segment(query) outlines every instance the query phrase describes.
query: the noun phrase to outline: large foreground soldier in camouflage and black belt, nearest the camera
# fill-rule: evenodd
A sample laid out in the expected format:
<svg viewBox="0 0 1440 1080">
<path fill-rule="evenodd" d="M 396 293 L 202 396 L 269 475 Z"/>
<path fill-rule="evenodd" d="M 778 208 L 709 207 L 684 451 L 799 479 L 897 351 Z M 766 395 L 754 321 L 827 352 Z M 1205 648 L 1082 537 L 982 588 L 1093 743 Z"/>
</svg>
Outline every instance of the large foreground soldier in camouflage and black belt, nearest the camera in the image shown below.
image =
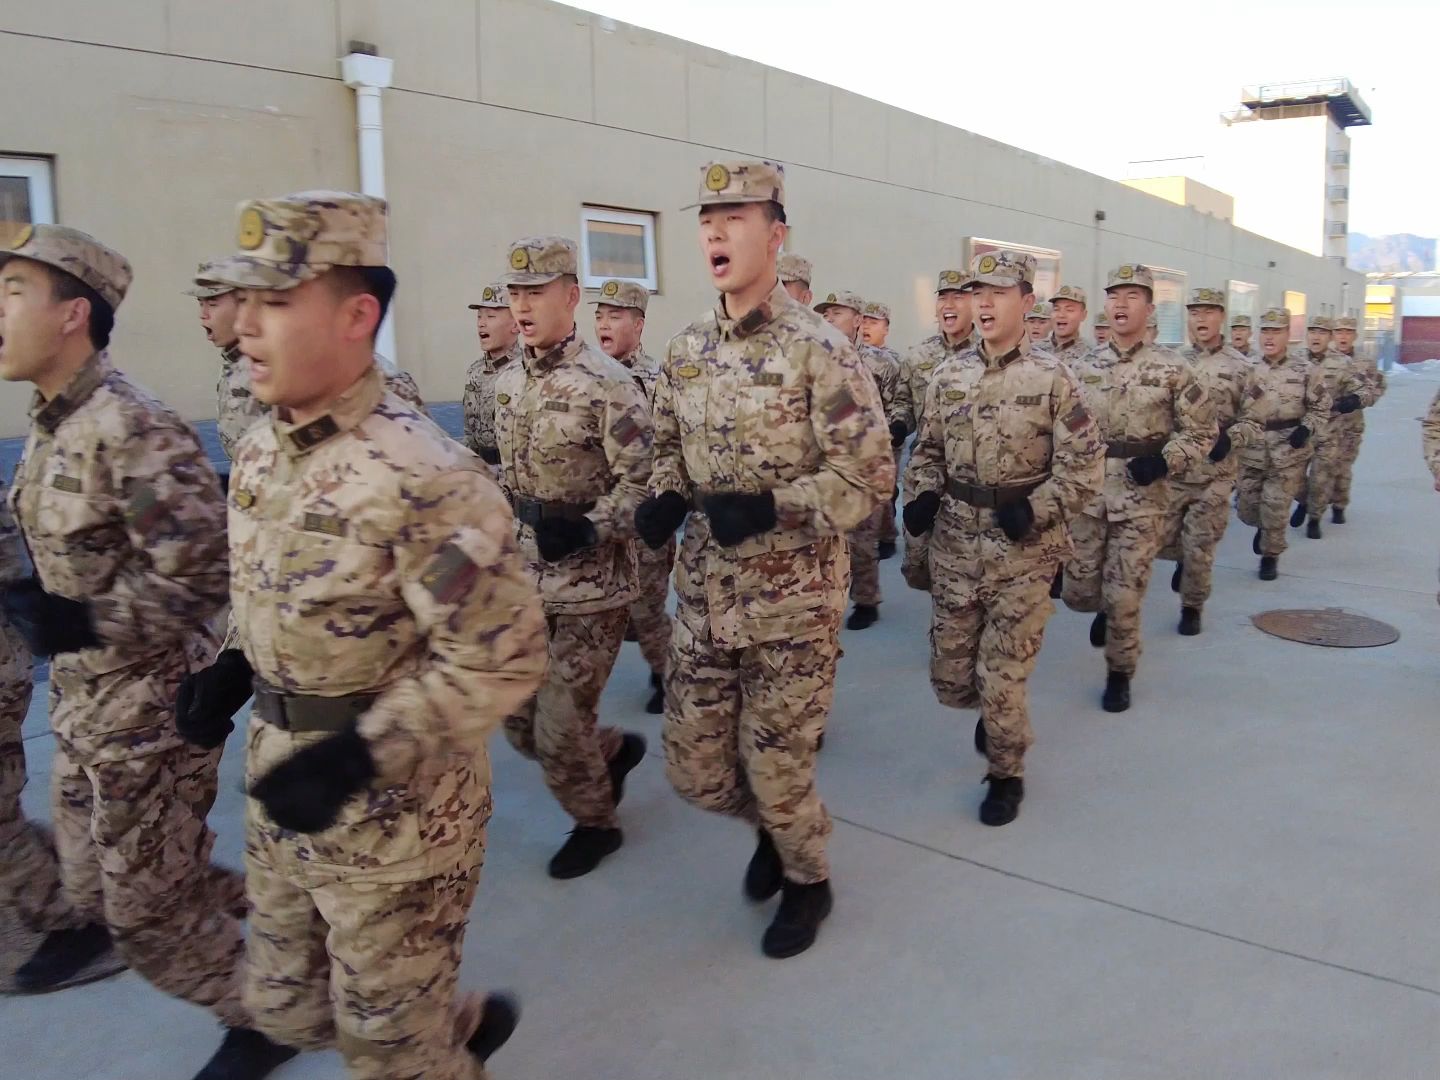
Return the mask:
<svg viewBox="0 0 1440 1080">
<path fill-rule="evenodd" d="M 238 330 L 272 406 L 235 455 L 230 648 L 177 721 L 246 737 L 245 1002 L 353 1077 L 478 1080 L 516 1007 L 456 995 L 490 818 L 487 736 L 544 664 L 514 520 L 484 465 L 387 390 L 384 202 L 239 207 Z M 284 304 L 272 302 L 284 298 Z M 200 1077 L 272 1060 L 230 1032 Z M 268 1056 L 268 1057 L 266 1057 Z"/>
</svg>

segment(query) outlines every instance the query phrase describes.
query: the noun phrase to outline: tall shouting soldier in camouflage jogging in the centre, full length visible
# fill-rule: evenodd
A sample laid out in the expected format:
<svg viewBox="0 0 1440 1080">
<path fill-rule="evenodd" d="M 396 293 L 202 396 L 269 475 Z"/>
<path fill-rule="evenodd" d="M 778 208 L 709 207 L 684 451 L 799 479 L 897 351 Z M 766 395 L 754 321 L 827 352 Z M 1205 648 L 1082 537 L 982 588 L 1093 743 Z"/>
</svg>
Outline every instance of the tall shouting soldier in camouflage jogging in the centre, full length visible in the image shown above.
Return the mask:
<svg viewBox="0 0 1440 1080">
<path fill-rule="evenodd" d="M 894 461 L 864 361 L 779 284 L 783 167 L 713 163 L 698 206 L 720 300 L 667 350 L 655 494 L 635 516 L 652 546 L 688 516 L 665 765 L 685 799 L 759 827 L 744 891 L 783 891 L 762 949 L 795 956 L 832 903 L 815 746 L 835 693 L 844 536 L 890 498 Z"/>
</svg>

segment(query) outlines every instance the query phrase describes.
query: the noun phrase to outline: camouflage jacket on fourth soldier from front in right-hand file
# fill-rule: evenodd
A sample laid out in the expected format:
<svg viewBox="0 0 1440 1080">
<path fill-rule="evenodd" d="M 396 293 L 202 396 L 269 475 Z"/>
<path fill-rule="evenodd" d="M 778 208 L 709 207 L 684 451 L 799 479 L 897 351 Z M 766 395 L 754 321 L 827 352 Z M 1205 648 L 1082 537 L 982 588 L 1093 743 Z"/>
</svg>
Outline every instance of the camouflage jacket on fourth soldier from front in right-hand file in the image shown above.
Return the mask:
<svg viewBox="0 0 1440 1080">
<path fill-rule="evenodd" d="M 1070 364 L 1080 395 L 1110 442 L 1156 442 L 1169 472 L 1188 472 L 1215 445 L 1220 433 L 1205 387 L 1178 353 L 1136 344 L 1122 353 L 1116 341 L 1092 348 Z M 1087 508 L 1094 517 L 1129 520 L 1162 516 L 1169 508 L 1169 485 L 1139 485 L 1129 461 L 1104 461 L 1104 494 Z"/>
</svg>

